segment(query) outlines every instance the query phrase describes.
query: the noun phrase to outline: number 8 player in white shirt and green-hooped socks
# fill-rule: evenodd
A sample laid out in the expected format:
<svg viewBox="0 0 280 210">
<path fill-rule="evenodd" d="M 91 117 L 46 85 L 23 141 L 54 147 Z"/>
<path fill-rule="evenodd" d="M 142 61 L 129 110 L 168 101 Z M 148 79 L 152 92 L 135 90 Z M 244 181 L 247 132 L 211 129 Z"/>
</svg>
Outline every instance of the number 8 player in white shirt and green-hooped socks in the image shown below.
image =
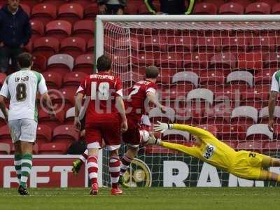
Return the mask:
<svg viewBox="0 0 280 210">
<path fill-rule="evenodd" d="M 32 150 L 36 139 L 38 111 L 36 107 L 37 91 L 53 112 L 45 78 L 41 73 L 31 70 L 32 55 L 23 52 L 18 56 L 20 71 L 12 73 L 3 83 L 0 91 L 0 109 L 10 128 L 10 136 L 15 145 L 15 170 L 17 172 L 20 195 L 29 195 L 27 179 L 32 167 Z M 9 111 L 4 100 L 10 97 Z"/>
</svg>

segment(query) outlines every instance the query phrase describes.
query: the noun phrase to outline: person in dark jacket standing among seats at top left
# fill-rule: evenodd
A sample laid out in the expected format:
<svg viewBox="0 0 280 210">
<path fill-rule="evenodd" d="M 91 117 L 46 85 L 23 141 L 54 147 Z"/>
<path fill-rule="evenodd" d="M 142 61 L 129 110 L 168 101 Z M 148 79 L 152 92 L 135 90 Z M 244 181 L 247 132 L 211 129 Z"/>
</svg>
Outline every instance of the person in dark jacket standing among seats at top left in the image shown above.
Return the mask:
<svg viewBox="0 0 280 210">
<path fill-rule="evenodd" d="M 8 0 L 0 10 L 0 71 L 8 70 L 9 59 L 13 71 L 18 69 L 17 57 L 31 37 L 27 13 L 20 7 L 20 0 Z"/>
</svg>

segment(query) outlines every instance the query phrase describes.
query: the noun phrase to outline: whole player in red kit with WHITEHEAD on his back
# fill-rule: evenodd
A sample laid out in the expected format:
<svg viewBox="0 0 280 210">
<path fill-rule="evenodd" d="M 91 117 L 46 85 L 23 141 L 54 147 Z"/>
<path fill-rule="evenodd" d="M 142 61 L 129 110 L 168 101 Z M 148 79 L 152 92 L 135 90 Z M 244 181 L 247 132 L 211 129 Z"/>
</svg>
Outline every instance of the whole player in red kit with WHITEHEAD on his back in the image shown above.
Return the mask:
<svg viewBox="0 0 280 210">
<path fill-rule="evenodd" d="M 80 108 L 83 97 L 90 97 L 85 117 L 85 141 L 87 142 L 87 170 L 92 183 L 91 195 L 97 195 L 98 152 L 102 139 L 109 149 L 109 171 L 112 181 L 112 195 L 122 194 L 118 186 L 120 176 L 121 132 L 127 131 L 127 118 L 123 102 L 123 86 L 119 78 L 111 74 L 111 59 L 102 55 L 97 59 L 98 73 L 93 73 L 81 81 L 75 104 L 76 129 L 80 130 Z"/>
</svg>

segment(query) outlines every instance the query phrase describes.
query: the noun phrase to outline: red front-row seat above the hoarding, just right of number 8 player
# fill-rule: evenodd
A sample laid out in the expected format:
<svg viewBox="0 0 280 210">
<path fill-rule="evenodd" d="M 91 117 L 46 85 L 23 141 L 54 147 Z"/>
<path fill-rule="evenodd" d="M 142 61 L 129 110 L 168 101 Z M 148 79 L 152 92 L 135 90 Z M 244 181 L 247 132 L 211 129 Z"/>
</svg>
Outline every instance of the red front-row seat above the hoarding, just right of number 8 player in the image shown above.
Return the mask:
<svg viewBox="0 0 280 210">
<path fill-rule="evenodd" d="M 40 155 L 63 155 L 66 153 L 68 146 L 69 144 L 67 143 L 57 142 L 40 144 L 38 147 L 38 153 Z"/>
</svg>

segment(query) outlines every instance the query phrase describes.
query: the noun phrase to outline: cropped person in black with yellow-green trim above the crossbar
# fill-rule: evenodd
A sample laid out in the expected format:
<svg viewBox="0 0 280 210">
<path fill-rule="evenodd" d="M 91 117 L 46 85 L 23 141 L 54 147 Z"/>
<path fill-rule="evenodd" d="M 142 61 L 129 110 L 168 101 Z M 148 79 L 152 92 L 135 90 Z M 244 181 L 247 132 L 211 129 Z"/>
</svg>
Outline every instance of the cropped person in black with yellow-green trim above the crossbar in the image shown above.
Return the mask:
<svg viewBox="0 0 280 210">
<path fill-rule="evenodd" d="M 153 0 L 144 0 L 148 11 L 153 14 L 165 15 L 189 15 L 193 10 L 195 0 L 188 1 L 188 8 L 186 8 L 186 0 L 160 0 L 160 11 L 155 9 Z"/>
</svg>

